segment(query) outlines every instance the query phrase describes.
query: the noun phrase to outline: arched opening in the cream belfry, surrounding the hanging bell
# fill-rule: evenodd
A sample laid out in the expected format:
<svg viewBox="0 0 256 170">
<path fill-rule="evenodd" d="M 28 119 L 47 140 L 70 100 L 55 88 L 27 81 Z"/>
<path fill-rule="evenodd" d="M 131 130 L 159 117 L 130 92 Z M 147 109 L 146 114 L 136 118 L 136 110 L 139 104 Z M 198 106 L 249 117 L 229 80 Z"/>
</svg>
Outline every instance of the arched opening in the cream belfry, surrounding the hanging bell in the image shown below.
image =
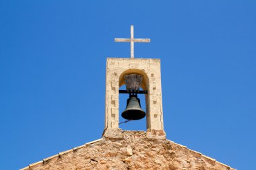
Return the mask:
<svg viewBox="0 0 256 170">
<path fill-rule="evenodd" d="M 141 83 L 141 90 L 148 91 L 149 93 L 149 81 L 148 76 L 143 70 L 139 69 L 128 69 L 127 71 L 124 71 L 120 77 L 119 77 L 119 89 L 120 90 L 126 90 L 125 86 L 125 75 L 129 74 L 136 74 L 136 75 L 142 75 L 142 83 Z M 146 117 L 141 120 L 131 120 L 127 123 L 123 123 L 127 121 L 126 119 L 122 118 L 121 114 L 125 110 L 127 105 L 127 99 L 129 98 L 129 94 L 119 94 L 119 128 L 123 130 L 146 130 L 148 125 L 146 126 L 148 122 L 148 113 L 149 113 L 149 101 L 147 94 L 137 94 L 137 97 L 140 99 L 141 109 L 146 112 Z"/>
</svg>

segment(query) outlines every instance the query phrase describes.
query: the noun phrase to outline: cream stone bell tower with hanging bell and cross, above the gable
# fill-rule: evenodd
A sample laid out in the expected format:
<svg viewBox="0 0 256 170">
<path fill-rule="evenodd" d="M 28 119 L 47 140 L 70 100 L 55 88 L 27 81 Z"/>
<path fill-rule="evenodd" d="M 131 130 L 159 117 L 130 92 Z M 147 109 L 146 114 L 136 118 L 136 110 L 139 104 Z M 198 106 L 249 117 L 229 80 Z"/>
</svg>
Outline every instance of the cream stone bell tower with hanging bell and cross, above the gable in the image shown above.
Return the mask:
<svg viewBox="0 0 256 170">
<path fill-rule="evenodd" d="M 131 42 L 131 58 L 107 58 L 106 60 L 106 98 L 105 98 L 105 129 L 103 136 L 117 133 L 119 128 L 119 87 L 125 84 L 125 76 L 139 75 L 142 77 L 141 89 L 146 97 L 146 128 L 150 138 L 165 138 L 160 59 L 134 58 L 134 42 L 150 42 L 150 39 L 115 38 L 116 42 Z M 127 89 L 128 91 L 128 89 Z M 139 95 L 139 97 L 143 97 Z M 131 95 L 130 95 L 131 96 Z M 139 120 L 134 120 L 139 121 Z M 110 132 L 111 131 L 111 132 Z"/>
</svg>

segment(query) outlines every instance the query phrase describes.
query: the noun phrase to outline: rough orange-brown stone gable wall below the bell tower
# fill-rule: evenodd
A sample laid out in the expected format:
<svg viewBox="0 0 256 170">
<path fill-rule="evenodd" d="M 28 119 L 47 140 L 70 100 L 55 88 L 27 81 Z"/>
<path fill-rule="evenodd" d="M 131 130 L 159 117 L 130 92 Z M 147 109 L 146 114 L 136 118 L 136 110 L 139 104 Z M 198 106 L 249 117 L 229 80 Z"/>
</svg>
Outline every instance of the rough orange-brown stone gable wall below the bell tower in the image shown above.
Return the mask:
<svg viewBox="0 0 256 170">
<path fill-rule="evenodd" d="M 200 169 L 228 170 L 228 165 L 143 131 L 122 131 L 59 153 L 22 170 L 51 169 Z"/>
</svg>

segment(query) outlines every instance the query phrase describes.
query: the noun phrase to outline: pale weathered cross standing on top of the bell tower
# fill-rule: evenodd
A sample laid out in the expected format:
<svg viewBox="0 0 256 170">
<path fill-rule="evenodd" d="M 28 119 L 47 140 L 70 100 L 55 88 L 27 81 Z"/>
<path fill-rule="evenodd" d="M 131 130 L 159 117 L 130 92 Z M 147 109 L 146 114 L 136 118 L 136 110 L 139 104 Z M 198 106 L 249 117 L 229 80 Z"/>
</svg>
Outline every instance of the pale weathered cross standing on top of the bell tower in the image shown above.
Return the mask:
<svg viewBox="0 0 256 170">
<path fill-rule="evenodd" d="M 131 42 L 131 58 L 134 58 L 134 42 L 150 42 L 150 38 L 133 38 L 133 26 L 131 26 L 131 38 L 115 38 L 115 42 Z"/>
</svg>

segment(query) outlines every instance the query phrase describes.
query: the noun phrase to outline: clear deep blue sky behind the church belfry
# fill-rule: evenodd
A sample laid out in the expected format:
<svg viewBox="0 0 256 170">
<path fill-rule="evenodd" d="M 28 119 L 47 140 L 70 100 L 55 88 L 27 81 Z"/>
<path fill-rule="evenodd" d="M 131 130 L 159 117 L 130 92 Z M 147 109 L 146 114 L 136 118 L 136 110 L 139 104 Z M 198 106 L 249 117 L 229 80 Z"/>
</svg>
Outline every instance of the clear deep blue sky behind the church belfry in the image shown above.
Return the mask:
<svg viewBox="0 0 256 170">
<path fill-rule="evenodd" d="M 114 38 L 131 24 L 152 41 L 135 44 L 135 58 L 161 59 L 167 138 L 256 169 L 255 0 L 1 0 L 0 169 L 101 137 L 106 57 L 129 57 Z"/>
</svg>

